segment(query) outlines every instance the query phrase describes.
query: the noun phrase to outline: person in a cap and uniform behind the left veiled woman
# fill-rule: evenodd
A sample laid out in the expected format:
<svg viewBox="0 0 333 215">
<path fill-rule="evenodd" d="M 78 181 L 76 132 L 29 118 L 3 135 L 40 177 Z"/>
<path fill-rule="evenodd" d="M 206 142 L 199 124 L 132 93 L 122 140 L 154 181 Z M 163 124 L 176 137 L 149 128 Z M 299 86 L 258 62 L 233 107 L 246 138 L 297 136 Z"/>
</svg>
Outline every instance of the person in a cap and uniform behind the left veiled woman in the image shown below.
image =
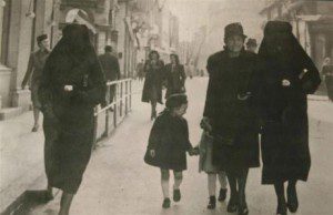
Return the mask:
<svg viewBox="0 0 333 215">
<path fill-rule="evenodd" d="M 49 51 L 50 43 L 47 34 L 39 35 L 37 38 L 37 43 L 39 50 L 30 54 L 28 69 L 21 84 L 22 89 L 24 89 L 27 83 L 30 82 L 29 85 L 31 91 L 31 101 L 32 101 L 33 120 L 34 120 L 32 132 L 37 132 L 39 129 L 40 102 L 38 99 L 38 89 L 40 85 L 40 79 L 42 75 L 43 66 L 50 53 Z"/>
</svg>

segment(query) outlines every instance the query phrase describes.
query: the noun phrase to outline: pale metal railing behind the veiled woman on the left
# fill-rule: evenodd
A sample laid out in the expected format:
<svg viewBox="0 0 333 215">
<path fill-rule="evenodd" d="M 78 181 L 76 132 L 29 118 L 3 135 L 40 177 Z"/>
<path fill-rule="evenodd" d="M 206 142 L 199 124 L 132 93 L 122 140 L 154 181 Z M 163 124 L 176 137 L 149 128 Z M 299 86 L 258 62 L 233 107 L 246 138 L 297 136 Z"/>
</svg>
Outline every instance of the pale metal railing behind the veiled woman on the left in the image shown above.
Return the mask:
<svg viewBox="0 0 333 215">
<path fill-rule="evenodd" d="M 110 94 L 113 101 L 110 103 Z M 109 96 L 108 96 L 109 94 Z M 132 109 L 132 79 L 107 83 L 107 105 L 98 106 L 94 112 L 94 143 L 108 137 Z"/>
</svg>

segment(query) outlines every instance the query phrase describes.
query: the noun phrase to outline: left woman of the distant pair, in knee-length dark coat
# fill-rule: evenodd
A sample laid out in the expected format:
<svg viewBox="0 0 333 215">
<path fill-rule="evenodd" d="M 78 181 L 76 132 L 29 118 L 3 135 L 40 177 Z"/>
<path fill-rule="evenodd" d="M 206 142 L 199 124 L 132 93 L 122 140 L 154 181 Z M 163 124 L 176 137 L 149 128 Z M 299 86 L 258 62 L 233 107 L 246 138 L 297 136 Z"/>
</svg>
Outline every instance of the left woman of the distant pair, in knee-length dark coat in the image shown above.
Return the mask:
<svg viewBox="0 0 333 215">
<path fill-rule="evenodd" d="M 164 63 L 157 51 L 149 53 L 149 60 L 144 63 L 145 80 L 142 91 L 142 102 L 151 103 L 151 120 L 157 117 L 157 104 L 162 102 L 162 82 L 164 80 Z"/>
</svg>

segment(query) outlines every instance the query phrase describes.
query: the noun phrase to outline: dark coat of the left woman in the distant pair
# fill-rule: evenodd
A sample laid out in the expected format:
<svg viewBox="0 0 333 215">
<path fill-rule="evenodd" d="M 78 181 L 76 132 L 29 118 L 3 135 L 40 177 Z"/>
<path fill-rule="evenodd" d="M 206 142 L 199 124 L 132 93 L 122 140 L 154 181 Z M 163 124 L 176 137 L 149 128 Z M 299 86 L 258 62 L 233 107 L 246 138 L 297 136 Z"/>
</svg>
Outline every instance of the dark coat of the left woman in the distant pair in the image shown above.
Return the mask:
<svg viewBox="0 0 333 215">
<path fill-rule="evenodd" d="M 162 102 L 162 83 L 165 78 L 164 63 L 159 60 L 152 64 L 150 60 L 144 63 L 145 80 L 142 91 L 142 102 L 151 102 L 157 99 L 157 102 Z"/>
</svg>

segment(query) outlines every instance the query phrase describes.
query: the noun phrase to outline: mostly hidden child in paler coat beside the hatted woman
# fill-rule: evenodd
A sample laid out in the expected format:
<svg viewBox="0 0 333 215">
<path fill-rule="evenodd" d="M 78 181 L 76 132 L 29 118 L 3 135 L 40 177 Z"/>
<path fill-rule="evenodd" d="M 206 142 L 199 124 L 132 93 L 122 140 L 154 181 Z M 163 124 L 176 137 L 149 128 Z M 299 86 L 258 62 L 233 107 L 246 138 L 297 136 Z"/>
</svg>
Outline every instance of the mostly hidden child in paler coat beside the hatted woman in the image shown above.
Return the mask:
<svg viewBox="0 0 333 215">
<path fill-rule="evenodd" d="M 204 121 L 201 122 L 201 129 L 204 131 L 201 135 L 201 141 L 199 145 L 200 158 L 199 158 L 199 172 L 204 171 L 208 174 L 208 191 L 210 201 L 208 204 L 209 209 L 214 209 L 216 207 L 216 178 L 219 178 L 221 188 L 219 193 L 219 202 L 223 202 L 226 198 L 226 174 L 219 166 L 215 166 L 212 161 L 213 155 L 213 136 L 206 132 L 210 131 L 211 127 L 209 123 Z"/>
</svg>

